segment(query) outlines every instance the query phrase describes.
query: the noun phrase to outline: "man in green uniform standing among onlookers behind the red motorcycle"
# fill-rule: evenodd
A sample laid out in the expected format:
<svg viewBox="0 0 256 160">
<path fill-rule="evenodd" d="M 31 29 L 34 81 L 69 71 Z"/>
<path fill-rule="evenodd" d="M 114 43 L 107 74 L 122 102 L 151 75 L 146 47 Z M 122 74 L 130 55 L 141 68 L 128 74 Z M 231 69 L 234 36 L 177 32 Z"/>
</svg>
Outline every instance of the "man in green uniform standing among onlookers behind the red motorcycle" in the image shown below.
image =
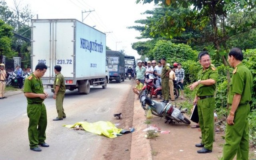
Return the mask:
<svg viewBox="0 0 256 160">
<path fill-rule="evenodd" d="M 161 64 L 163 66 L 162 73 L 161 73 L 161 85 L 162 85 L 162 95 L 164 100 L 162 102 L 168 103 L 169 102 L 169 73 L 171 72 L 171 68 L 166 65 L 166 59 L 161 59 Z"/>
</svg>

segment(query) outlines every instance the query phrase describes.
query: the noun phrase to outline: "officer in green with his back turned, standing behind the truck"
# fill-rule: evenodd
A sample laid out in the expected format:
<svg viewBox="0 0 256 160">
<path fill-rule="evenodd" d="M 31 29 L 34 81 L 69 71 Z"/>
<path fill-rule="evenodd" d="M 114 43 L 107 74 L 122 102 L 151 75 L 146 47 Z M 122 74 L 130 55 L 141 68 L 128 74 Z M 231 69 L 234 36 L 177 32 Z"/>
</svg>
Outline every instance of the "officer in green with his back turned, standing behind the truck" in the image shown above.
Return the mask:
<svg viewBox="0 0 256 160">
<path fill-rule="evenodd" d="M 54 118 L 53 120 L 63 120 L 63 118 L 66 118 L 66 114 L 64 113 L 63 108 L 63 100 L 64 100 L 64 94 L 66 91 L 65 88 L 65 79 L 64 76 L 60 73 L 61 66 L 56 65 L 54 66 L 54 72 L 56 74 L 53 88 L 54 88 L 54 95 L 53 99 L 56 99 L 56 109 L 58 113 L 58 117 Z"/>
</svg>

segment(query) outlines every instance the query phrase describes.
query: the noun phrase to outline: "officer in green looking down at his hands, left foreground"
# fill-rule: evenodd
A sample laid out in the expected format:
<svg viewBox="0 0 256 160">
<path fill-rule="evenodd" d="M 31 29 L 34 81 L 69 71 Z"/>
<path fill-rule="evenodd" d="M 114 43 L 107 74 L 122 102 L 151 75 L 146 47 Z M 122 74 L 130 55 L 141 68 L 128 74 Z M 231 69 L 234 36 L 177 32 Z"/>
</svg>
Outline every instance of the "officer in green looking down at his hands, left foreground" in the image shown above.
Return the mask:
<svg viewBox="0 0 256 160">
<path fill-rule="evenodd" d="M 27 114 L 29 118 L 28 139 L 30 142 L 30 150 L 40 152 L 42 147 L 49 147 L 46 140 L 47 115 L 44 100 L 48 94 L 44 92 L 42 80 L 47 70 L 47 66 L 43 63 L 36 65 L 36 70 L 26 78 L 24 82 L 24 94 L 27 98 Z"/>
</svg>

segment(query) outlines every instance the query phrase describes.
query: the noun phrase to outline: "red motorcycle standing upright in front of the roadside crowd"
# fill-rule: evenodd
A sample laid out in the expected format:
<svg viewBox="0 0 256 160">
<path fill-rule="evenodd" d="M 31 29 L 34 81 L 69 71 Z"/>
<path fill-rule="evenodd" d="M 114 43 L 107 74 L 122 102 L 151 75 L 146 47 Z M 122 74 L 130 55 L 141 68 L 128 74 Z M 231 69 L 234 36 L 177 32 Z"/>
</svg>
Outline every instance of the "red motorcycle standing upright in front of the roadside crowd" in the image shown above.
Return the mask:
<svg viewBox="0 0 256 160">
<path fill-rule="evenodd" d="M 152 98 L 152 96 L 162 96 L 162 87 L 158 87 L 156 88 L 156 85 L 154 84 L 154 80 L 155 79 L 148 79 L 146 80 L 144 86 L 141 89 L 141 92 L 139 94 L 139 97 L 142 95 L 142 92 L 145 92 L 145 96 L 148 96 L 148 94 L 150 94 L 150 98 Z"/>
</svg>

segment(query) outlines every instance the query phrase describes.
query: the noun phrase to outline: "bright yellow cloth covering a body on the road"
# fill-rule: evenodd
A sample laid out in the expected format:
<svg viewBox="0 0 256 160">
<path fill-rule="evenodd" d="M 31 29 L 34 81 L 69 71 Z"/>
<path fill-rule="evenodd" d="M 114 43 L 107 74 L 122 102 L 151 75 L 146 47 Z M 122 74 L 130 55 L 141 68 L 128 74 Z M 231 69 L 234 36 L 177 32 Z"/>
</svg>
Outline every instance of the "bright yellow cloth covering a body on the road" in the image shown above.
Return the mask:
<svg viewBox="0 0 256 160">
<path fill-rule="evenodd" d="M 87 132 L 91 132 L 98 135 L 104 135 L 108 138 L 115 138 L 116 134 L 119 134 L 122 129 L 116 128 L 111 122 L 98 121 L 94 123 L 89 122 L 77 122 L 74 125 L 67 124 L 63 125 L 68 128 L 75 128 L 76 126 L 82 126 Z"/>
</svg>

